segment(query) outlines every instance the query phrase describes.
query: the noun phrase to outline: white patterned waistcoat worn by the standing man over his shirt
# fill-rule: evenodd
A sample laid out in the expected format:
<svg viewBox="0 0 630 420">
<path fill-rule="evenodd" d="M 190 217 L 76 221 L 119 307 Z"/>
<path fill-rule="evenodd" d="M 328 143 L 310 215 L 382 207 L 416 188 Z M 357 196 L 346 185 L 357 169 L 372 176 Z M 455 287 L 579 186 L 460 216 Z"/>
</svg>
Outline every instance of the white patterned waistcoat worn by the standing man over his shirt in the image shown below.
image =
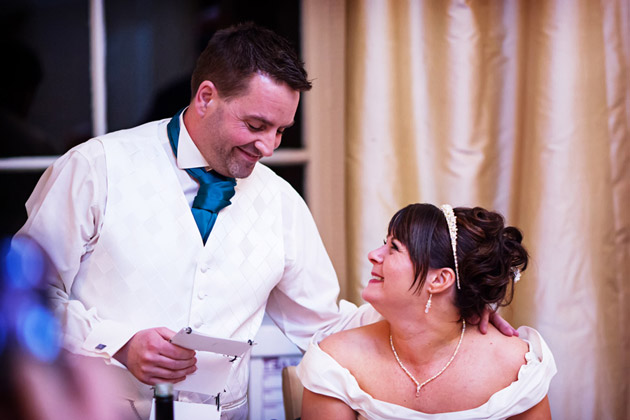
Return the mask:
<svg viewBox="0 0 630 420">
<path fill-rule="evenodd" d="M 218 337 L 253 339 L 284 271 L 282 192 L 290 187 L 256 165 L 251 176 L 238 180 L 232 204 L 221 210 L 204 246 L 163 141 L 164 127 L 156 123 L 101 140 L 108 174 L 105 219 L 72 297 L 98 308 L 100 317 L 138 330 L 192 326 Z M 222 401 L 246 392 L 248 359 L 234 363 Z M 148 385 L 127 376 L 150 395 Z"/>
</svg>

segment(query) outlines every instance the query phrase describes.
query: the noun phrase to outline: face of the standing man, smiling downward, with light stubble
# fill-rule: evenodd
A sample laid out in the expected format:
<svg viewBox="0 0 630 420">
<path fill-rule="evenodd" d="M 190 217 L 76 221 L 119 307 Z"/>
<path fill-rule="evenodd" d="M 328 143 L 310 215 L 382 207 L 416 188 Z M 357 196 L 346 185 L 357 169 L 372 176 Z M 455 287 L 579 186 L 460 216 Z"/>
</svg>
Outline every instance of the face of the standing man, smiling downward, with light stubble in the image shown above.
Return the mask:
<svg viewBox="0 0 630 420">
<path fill-rule="evenodd" d="M 261 157 L 273 154 L 284 130 L 293 125 L 300 93 L 254 74 L 244 94 L 213 100 L 217 103 L 202 117 L 195 143 L 212 169 L 245 178 Z"/>
</svg>

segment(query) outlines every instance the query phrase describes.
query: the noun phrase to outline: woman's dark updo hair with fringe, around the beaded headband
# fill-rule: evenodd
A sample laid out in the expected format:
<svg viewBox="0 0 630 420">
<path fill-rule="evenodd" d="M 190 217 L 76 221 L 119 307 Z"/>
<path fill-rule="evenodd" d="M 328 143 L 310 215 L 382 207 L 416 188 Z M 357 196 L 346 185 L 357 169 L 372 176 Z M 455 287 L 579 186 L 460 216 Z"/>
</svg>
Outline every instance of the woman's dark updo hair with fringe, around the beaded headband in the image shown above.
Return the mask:
<svg viewBox="0 0 630 420">
<path fill-rule="evenodd" d="M 527 268 L 523 235 L 505 226 L 503 216 L 481 207 L 457 207 L 457 263 L 461 290 L 455 306 L 462 318 L 481 316 L 489 304 L 508 305 L 514 293 L 514 269 Z M 414 267 L 410 289 L 419 293 L 430 268 L 449 267 L 455 260 L 444 213 L 431 204 L 411 204 L 389 222 L 388 235 L 402 242 Z"/>
</svg>

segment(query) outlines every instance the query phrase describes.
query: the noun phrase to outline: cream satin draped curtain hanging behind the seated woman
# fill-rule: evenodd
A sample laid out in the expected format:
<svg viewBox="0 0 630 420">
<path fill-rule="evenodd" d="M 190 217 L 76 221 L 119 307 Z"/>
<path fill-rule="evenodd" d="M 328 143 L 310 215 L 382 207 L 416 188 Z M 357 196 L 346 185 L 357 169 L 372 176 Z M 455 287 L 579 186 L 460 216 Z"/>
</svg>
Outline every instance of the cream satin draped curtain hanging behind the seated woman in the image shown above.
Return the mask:
<svg viewBox="0 0 630 420">
<path fill-rule="evenodd" d="M 554 352 L 554 418 L 630 418 L 628 1 L 346 4 L 350 297 L 400 207 L 498 210 L 532 257 L 504 314 Z"/>
</svg>

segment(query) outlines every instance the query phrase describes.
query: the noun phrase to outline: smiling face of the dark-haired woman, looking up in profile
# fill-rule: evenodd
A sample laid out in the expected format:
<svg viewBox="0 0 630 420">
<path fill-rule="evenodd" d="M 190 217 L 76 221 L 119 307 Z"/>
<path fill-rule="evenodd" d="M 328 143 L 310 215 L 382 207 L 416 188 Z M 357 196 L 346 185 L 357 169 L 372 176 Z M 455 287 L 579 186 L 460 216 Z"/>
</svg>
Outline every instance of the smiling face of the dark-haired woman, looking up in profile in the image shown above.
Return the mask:
<svg viewBox="0 0 630 420">
<path fill-rule="evenodd" d="M 374 306 L 401 305 L 404 299 L 414 297 L 410 290 L 414 269 L 409 252 L 392 236 L 380 248 L 368 254 L 372 263 L 372 276 L 363 290 L 363 299 Z"/>
</svg>

